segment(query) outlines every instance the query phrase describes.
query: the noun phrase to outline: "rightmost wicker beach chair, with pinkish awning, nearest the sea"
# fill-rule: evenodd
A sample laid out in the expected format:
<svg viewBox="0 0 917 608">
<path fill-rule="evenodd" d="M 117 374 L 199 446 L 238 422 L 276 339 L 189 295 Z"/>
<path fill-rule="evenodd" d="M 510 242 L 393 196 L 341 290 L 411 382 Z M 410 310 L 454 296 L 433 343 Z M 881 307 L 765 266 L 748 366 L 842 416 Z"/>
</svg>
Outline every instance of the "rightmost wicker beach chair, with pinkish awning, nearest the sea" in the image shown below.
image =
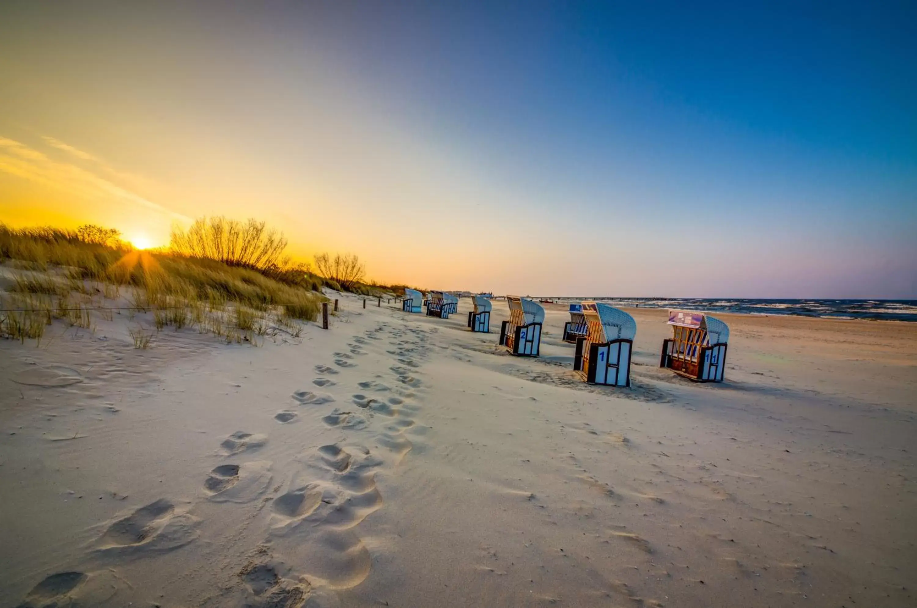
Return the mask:
<svg viewBox="0 0 917 608">
<path fill-rule="evenodd" d="M 668 311 L 672 337 L 662 342 L 659 367 L 700 382 L 722 382 L 729 326 L 704 313 Z"/>
</svg>

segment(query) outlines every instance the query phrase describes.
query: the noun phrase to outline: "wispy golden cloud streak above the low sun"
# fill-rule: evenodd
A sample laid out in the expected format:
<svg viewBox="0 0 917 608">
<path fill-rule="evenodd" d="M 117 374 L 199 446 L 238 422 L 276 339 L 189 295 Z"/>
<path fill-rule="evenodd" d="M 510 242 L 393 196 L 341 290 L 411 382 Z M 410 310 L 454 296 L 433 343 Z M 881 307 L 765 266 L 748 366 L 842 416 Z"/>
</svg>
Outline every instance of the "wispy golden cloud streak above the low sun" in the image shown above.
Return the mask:
<svg viewBox="0 0 917 608">
<path fill-rule="evenodd" d="M 43 139 L 51 148 L 64 151 L 76 159 L 93 162 L 97 165 L 96 170 L 101 169 L 109 174 L 118 174 L 104 160 L 88 152 L 74 148 L 59 139 L 50 137 Z M 38 149 L 30 148 L 22 142 L 3 136 L 0 136 L 0 171 L 72 193 L 87 200 L 96 200 L 100 196 L 112 197 L 152 209 L 174 219 L 184 222 L 191 221 L 190 217 L 154 203 L 148 198 L 100 175 L 97 171 L 85 169 L 70 161 L 54 160 Z"/>
</svg>

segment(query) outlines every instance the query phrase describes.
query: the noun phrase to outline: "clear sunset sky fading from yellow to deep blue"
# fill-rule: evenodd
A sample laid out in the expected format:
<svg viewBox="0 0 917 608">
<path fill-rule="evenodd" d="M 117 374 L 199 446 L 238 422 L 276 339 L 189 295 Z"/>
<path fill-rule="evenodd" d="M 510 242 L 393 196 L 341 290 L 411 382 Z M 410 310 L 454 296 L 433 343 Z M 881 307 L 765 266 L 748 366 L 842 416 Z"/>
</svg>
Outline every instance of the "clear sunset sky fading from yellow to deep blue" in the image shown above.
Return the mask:
<svg viewBox="0 0 917 608">
<path fill-rule="evenodd" d="M 370 277 L 917 298 L 917 4 L 0 3 L 0 221 Z"/>
</svg>

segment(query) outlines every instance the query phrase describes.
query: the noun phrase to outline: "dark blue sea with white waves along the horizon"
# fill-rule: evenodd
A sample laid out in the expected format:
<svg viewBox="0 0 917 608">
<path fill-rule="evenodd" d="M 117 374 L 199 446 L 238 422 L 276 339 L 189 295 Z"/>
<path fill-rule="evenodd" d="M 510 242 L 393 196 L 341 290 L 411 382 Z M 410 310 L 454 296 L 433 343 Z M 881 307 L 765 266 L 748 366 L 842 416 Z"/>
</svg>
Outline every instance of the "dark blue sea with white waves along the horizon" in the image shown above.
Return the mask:
<svg viewBox="0 0 917 608">
<path fill-rule="evenodd" d="M 639 308 L 683 308 L 709 313 L 819 316 L 837 319 L 917 322 L 917 300 L 752 300 L 741 298 L 551 298 L 556 303 L 593 300 Z"/>
</svg>

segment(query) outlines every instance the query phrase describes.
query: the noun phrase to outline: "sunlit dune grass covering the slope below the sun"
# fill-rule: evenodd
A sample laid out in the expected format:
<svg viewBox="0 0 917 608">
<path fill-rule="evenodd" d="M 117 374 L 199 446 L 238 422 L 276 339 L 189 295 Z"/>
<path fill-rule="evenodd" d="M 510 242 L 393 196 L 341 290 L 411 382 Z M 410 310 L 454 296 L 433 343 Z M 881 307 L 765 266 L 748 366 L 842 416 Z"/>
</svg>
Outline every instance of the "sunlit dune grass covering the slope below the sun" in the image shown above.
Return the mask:
<svg viewBox="0 0 917 608">
<path fill-rule="evenodd" d="M 54 319 L 92 328 L 91 309 L 110 320 L 105 302 L 123 296 L 133 314 L 152 312 L 157 331 L 196 326 L 227 342 L 254 343 L 271 327 L 300 334 L 293 319 L 315 321 L 325 299 L 313 291 L 320 282 L 301 269 L 272 269 L 282 282 L 218 260 L 87 242 L 57 228 L 0 224 L 0 263 L 17 268 L 0 308 L 24 309 L 0 313 L 0 335 L 22 341 L 40 340 Z M 135 344 L 147 348 L 149 340 Z"/>
</svg>

